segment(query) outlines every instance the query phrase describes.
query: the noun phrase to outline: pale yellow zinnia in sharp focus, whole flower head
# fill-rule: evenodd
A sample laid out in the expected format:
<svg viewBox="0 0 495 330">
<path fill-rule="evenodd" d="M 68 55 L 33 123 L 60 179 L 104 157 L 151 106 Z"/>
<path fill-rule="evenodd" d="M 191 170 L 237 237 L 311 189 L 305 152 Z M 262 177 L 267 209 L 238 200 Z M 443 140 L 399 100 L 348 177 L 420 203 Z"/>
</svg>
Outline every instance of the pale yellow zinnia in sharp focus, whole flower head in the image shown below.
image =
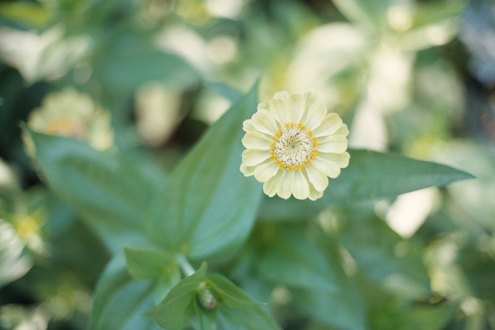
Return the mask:
<svg viewBox="0 0 495 330">
<path fill-rule="evenodd" d="M 315 200 L 349 163 L 347 126 L 313 93 L 279 92 L 244 121 L 241 172 L 270 197 Z"/>
</svg>

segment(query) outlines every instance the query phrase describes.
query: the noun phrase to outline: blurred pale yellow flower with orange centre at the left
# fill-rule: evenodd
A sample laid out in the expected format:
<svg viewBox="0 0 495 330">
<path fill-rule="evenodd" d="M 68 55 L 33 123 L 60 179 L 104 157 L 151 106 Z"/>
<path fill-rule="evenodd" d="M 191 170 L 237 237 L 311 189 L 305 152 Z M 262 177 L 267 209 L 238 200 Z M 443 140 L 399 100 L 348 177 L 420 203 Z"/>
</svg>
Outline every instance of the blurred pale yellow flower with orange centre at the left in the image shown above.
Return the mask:
<svg viewBox="0 0 495 330">
<path fill-rule="evenodd" d="M 91 96 L 67 88 L 45 97 L 30 114 L 27 126 L 39 133 L 73 137 L 104 150 L 113 144 L 110 113 L 93 102 Z M 23 135 L 26 152 L 34 157 L 35 145 L 29 134 Z"/>
</svg>

